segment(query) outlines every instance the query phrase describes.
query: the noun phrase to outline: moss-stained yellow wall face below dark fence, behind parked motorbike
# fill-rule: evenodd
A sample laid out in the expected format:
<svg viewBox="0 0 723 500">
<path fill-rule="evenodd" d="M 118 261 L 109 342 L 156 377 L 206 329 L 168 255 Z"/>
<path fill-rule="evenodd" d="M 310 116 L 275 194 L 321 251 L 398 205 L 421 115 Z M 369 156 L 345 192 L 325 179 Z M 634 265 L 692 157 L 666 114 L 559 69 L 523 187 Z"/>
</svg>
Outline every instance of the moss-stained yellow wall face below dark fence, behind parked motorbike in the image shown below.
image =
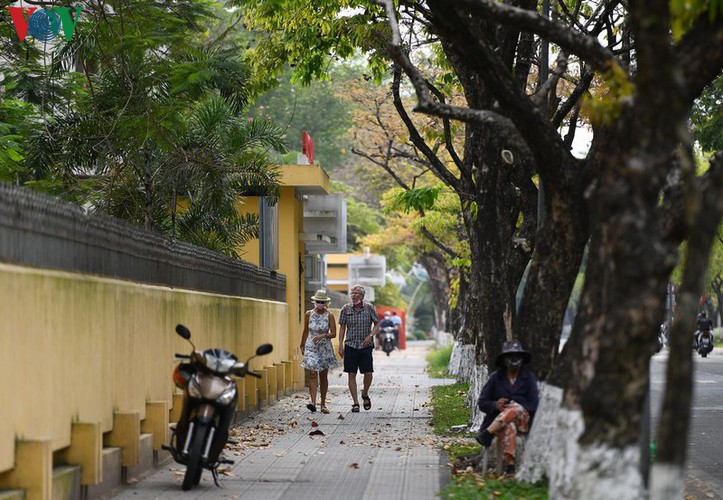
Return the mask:
<svg viewBox="0 0 723 500">
<path fill-rule="evenodd" d="M 115 412 L 173 406 L 174 353 L 222 347 L 242 359 L 271 342 L 252 368 L 288 361 L 287 305 L 0 264 L 0 484 L 16 440 L 70 444 L 74 423 L 113 427 Z M 294 283 L 291 286 L 298 284 Z M 293 289 L 293 288 L 292 288 Z M 298 344 L 298 342 L 295 342 Z M 10 473 L 8 473 L 10 474 Z"/>
</svg>

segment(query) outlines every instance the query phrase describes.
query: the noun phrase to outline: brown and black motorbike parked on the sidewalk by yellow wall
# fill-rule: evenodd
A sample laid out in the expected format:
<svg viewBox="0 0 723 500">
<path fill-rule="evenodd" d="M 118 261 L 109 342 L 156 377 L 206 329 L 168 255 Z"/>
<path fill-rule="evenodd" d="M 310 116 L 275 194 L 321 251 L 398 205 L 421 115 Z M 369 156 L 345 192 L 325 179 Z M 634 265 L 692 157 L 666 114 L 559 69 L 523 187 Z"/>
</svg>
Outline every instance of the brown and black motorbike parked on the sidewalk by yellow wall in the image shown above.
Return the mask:
<svg viewBox="0 0 723 500">
<path fill-rule="evenodd" d="M 219 486 L 218 466 L 233 463 L 221 456 L 229 442 L 229 427 L 238 399 L 236 382 L 231 377 L 251 375 L 261 378 L 248 369 L 248 363 L 256 356 L 270 353 L 273 346 L 260 345 L 256 354 L 244 363 L 224 349 L 197 351 L 190 330 L 183 325 L 176 326 L 176 333 L 188 340 L 193 350 L 190 355 L 176 354 L 178 359 L 189 360 L 176 365 L 173 371 L 176 387 L 183 389 L 183 410 L 171 434 L 170 445 L 164 445 L 163 449 L 170 452 L 176 462 L 186 466 L 184 490 L 190 490 L 201 481 L 204 468 L 211 471 L 214 483 Z"/>
</svg>

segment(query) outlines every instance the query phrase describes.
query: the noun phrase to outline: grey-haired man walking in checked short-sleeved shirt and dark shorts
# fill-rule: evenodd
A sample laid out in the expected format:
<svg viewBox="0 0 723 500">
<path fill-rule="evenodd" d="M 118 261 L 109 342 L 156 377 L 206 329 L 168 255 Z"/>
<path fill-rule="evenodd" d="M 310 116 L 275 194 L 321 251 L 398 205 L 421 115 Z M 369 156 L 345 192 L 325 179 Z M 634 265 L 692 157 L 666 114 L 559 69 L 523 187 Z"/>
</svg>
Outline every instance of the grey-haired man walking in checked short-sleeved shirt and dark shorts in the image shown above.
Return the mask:
<svg viewBox="0 0 723 500">
<path fill-rule="evenodd" d="M 363 377 L 362 401 L 364 409 L 370 410 L 369 387 L 372 385 L 374 365 L 372 351 L 374 336 L 379 330 L 379 317 L 371 304 L 364 302 L 364 287 L 354 285 L 351 289 L 351 303 L 344 304 L 339 315 L 339 355 L 344 360 L 344 371 L 349 376 L 349 392 L 354 400 L 351 411 L 359 412 L 356 374 Z"/>
</svg>

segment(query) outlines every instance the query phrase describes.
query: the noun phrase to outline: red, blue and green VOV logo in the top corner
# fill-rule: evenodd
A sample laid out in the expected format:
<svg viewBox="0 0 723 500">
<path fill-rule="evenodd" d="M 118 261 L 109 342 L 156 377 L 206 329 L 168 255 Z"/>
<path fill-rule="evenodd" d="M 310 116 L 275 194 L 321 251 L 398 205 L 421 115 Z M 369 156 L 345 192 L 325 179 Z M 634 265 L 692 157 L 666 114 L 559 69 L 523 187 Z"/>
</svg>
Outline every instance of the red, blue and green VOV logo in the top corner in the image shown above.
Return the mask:
<svg viewBox="0 0 723 500">
<path fill-rule="evenodd" d="M 53 7 L 52 9 L 38 9 L 37 7 L 8 7 L 10 18 L 21 42 L 25 41 L 28 33 L 41 42 L 48 42 L 58 36 L 60 29 L 67 41 L 73 38 L 75 27 L 78 24 L 82 7 L 75 7 L 75 14 L 71 16 L 70 7 Z"/>
</svg>

